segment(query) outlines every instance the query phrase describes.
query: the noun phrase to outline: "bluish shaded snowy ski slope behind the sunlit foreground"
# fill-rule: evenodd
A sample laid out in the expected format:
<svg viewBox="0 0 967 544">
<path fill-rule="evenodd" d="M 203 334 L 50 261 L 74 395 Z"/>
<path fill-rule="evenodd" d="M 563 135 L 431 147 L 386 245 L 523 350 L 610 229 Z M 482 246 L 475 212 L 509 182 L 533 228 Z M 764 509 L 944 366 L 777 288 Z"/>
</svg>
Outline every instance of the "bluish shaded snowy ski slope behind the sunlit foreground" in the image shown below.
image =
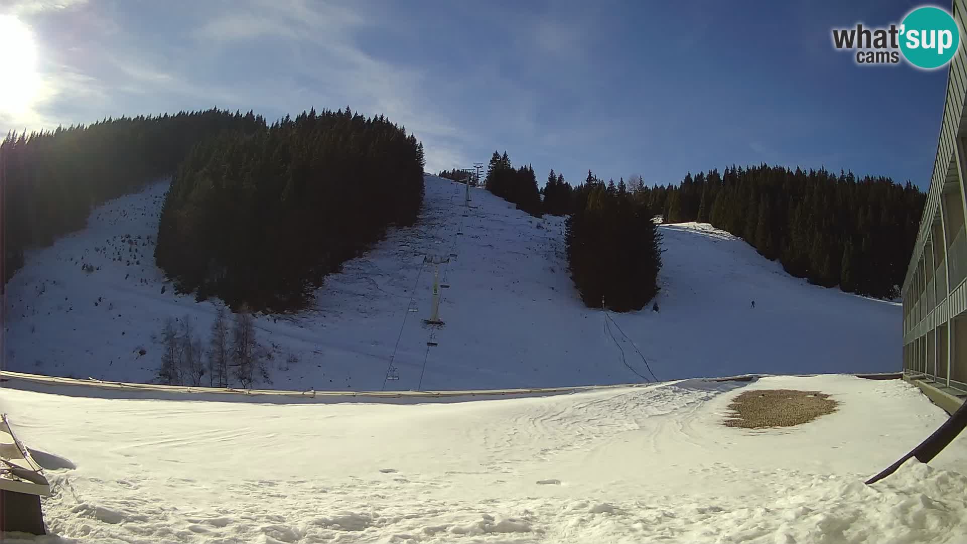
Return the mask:
<svg viewBox="0 0 967 544">
<path fill-rule="evenodd" d="M 274 386 L 500 388 L 899 369 L 898 304 L 809 286 L 707 225 L 661 227 L 660 312 L 611 315 L 617 326 L 605 327 L 568 277 L 562 218 L 532 218 L 480 189 L 468 209 L 463 185 L 426 176 L 425 186 L 419 225 L 348 262 L 312 309 L 258 318 L 261 341 L 276 352 Z M 215 304 L 174 294 L 154 264 L 165 190 L 111 201 L 85 230 L 27 257 L 8 285 L 9 370 L 145 381 L 160 362 L 152 335 L 164 318 L 190 315 L 207 336 Z M 439 267 L 450 286 L 441 288 L 439 329 L 423 323 L 427 258 L 449 258 Z M 289 354 L 299 362 L 286 370 Z M 397 380 L 386 379 L 391 359 Z"/>
</svg>

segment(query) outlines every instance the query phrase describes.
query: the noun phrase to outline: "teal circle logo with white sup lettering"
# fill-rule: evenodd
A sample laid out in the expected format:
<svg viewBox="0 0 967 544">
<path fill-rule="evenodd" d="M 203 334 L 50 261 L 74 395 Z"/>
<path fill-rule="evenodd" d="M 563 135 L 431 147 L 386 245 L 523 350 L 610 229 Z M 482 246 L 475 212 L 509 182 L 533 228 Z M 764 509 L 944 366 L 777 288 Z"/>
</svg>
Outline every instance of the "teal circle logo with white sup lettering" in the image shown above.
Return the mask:
<svg viewBox="0 0 967 544">
<path fill-rule="evenodd" d="M 946 65 L 959 46 L 960 28 L 940 8 L 917 8 L 900 24 L 900 50 L 918 68 L 932 70 Z"/>
</svg>

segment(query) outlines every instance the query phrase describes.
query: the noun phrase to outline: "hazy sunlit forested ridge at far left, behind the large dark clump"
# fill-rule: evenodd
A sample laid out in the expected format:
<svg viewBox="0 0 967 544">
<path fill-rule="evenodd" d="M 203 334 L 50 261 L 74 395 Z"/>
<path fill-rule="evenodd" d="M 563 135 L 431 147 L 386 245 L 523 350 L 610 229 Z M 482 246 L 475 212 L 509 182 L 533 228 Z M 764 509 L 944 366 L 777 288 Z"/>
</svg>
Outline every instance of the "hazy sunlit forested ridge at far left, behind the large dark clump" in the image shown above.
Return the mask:
<svg viewBox="0 0 967 544">
<path fill-rule="evenodd" d="M 84 227 L 94 206 L 171 174 L 197 142 L 264 125 L 251 111 L 208 109 L 9 133 L 0 141 L 4 285 L 23 266 L 24 251 Z"/>
</svg>

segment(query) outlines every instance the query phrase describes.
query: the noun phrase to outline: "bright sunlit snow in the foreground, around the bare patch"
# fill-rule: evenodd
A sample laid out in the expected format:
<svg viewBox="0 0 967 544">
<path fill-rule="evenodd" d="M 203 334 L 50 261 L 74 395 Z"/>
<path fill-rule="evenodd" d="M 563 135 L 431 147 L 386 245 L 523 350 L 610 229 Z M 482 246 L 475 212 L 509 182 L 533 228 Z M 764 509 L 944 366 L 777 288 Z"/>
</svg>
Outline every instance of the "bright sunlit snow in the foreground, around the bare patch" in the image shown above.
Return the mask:
<svg viewBox="0 0 967 544">
<path fill-rule="evenodd" d="M 946 418 L 899 379 L 687 379 L 416 405 L 0 390 L 53 535 L 8 542 L 962 542 L 967 437 L 863 480 Z M 743 391 L 819 390 L 804 425 L 721 424 Z M 40 457 L 39 457 L 40 458 Z M 75 468 L 71 468 L 75 467 Z"/>
</svg>

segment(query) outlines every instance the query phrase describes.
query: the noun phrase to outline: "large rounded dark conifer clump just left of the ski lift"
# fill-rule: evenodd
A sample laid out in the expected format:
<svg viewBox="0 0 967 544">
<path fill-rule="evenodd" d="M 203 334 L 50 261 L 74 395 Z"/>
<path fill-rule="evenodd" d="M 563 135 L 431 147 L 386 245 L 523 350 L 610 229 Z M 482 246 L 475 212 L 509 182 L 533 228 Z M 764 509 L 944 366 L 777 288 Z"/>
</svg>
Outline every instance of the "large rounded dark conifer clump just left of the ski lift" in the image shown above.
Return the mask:
<svg viewBox="0 0 967 544">
<path fill-rule="evenodd" d="M 199 142 L 175 172 L 155 257 L 180 292 L 305 307 L 327 274 L 417 220 L 423 144 L 384 116 L 315 109 Z"/>
</svg>

